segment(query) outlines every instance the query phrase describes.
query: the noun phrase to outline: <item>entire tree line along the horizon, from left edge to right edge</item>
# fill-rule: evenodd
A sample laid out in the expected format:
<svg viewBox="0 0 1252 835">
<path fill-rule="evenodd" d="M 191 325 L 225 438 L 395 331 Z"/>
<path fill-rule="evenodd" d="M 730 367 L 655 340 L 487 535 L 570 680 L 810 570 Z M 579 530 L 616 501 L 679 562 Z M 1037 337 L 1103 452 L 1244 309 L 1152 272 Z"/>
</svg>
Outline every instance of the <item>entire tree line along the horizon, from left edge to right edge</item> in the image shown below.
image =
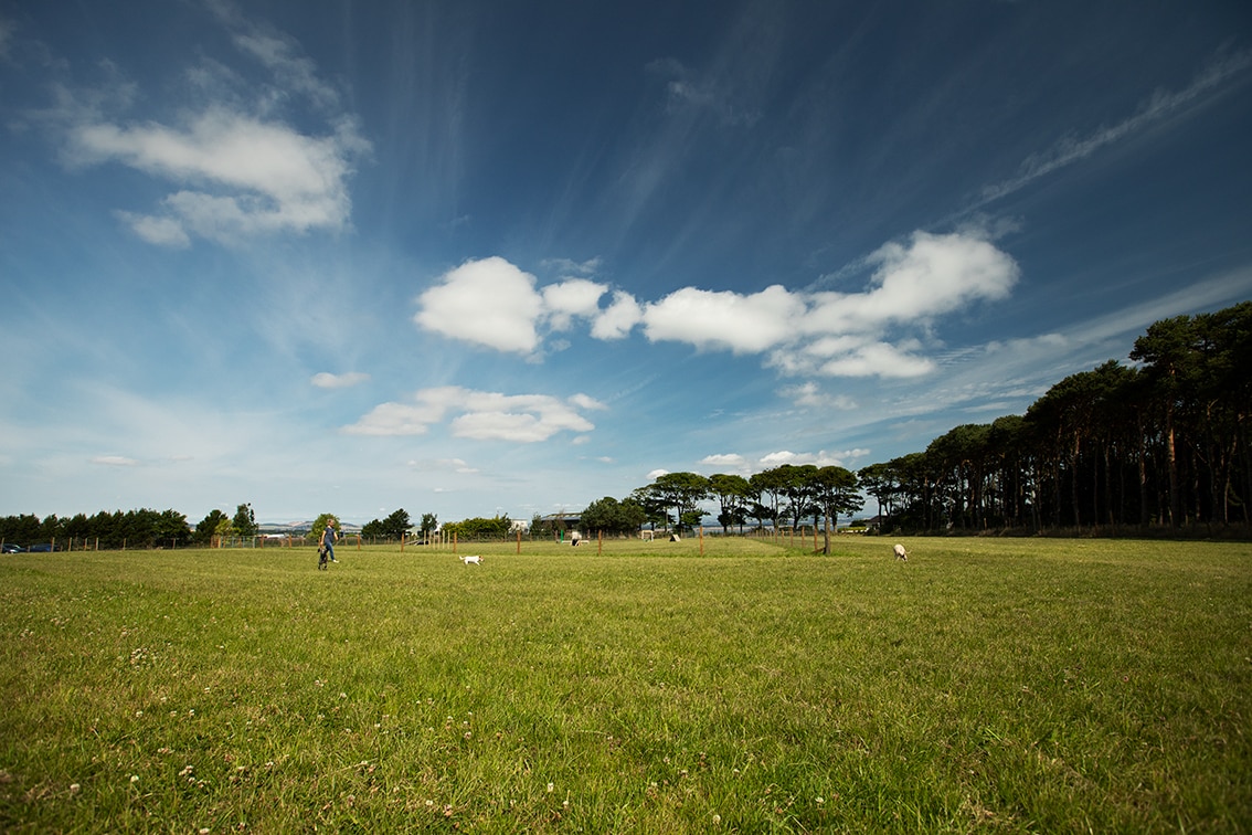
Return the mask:
<svg viewBox="0 0 1252 835">
<path fill-rule="evenodd" d="M 860 511 L 864 496 L 876 501 L 884 532 L 1252 526 L 1252 302 L 1156 322 L 1129 358 L 1134 364 L 1108 361 L 1065 377 L 1025 414 L 954 427 L 924 451 L 855 473 L 813 464 L 750 477 L 666 473 L 621 501 L 592 502 L 582 527 L 610 535 L 645 525 L 690 530 L 710 499 L 724 532 L 749 521 L 796 528 L 813 520 L 829 527 Z M 477 536 L 507 532 L 510 522 L 454 525 Z M 408 527 L 401 510 L 373 520 L 362 535 L 398 540 Z M 436 527 L 436 517 L 423 515 L 423 532 Z M 0 518 L 0 541 L 19 545 L 180 547 L 255 532 L 249 505 L 234 517 L 213 511 L 194 531 L 173 510 Z"/>
</svg>

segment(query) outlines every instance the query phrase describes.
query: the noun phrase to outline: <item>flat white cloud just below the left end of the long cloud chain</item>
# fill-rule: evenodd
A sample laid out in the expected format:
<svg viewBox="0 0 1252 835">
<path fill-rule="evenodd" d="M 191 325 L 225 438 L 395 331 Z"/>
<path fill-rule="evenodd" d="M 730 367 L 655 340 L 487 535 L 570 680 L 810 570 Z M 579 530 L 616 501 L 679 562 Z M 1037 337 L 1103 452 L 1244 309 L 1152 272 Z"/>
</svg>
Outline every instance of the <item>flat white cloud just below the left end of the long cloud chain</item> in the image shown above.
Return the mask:
<svg viewBox="0 0 1252 835">
<path fill-rule="evenodd" d="M 343 431 L 363 436 L 424 434 L 452 416 L 448 428 L 456 437 L 536 443 L 560 432 L 591 432 L 596 427 L 582 412 L 602 408 L 586 394 L 561 399 L 446 386 L 422 389 L 408 403 L 382 403 Z"/>
</svg>

